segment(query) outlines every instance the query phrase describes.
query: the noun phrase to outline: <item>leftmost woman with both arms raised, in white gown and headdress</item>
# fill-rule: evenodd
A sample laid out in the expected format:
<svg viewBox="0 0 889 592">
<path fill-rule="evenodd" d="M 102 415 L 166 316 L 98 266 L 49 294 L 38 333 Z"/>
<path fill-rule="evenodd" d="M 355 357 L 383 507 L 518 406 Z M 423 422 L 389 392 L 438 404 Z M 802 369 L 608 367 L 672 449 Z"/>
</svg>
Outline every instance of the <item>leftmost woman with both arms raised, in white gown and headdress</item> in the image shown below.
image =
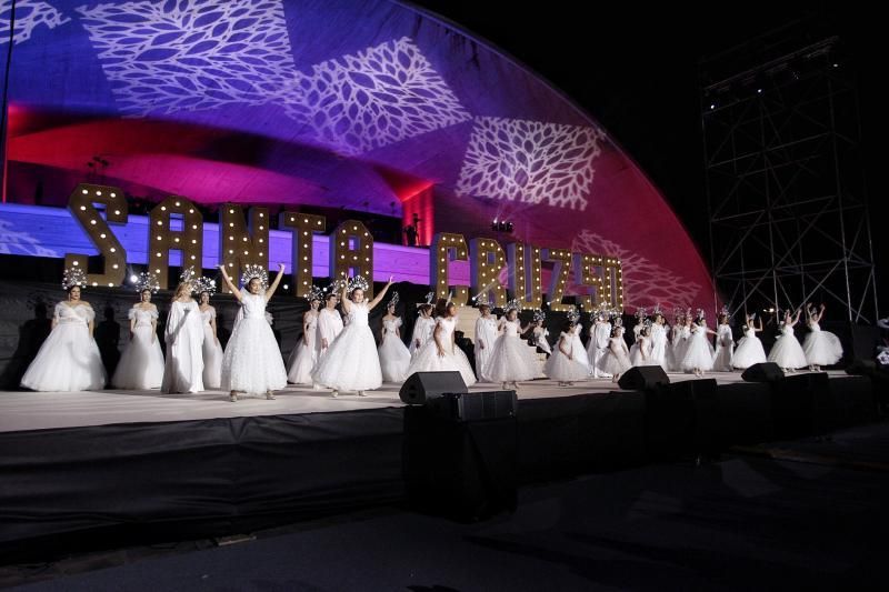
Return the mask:
<svg viewBox="0 0 889 592">
<path fill-rule="evenodd" d="M 226 265 L 219 265 L 219 270 L 243 312 L 231 331 L 222 357 L 222 390 L 229 391 L 232 402 L 242 393 L 264 393 L 266 399 L 274 399 L 274 391 L 287 387 L 287 371 L 274 333 L 266 319 L 266 305 L 281 283 L 284 264 L 279 263 L 271 285 L 264 267 L 244 265 L 241 273 L 243 290 L 231 281 Z"/>
</svg>

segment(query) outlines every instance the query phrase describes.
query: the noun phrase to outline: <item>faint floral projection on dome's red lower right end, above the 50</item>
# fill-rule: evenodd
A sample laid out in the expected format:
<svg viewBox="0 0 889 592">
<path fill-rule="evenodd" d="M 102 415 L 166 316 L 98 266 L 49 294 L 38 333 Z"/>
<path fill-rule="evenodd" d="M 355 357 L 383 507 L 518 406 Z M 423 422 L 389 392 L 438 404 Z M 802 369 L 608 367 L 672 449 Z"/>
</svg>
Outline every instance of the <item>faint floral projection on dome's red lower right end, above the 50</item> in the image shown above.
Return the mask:
<svg viewBox="0 0 889 592">
<path fill-rule="evenodd" d="M 689 308 L 700 304 L 696 298 L 698 298 L 698 293 L 701 290 L 701 284 L 677 275 L 645 257 L 602 238 L 601 234 L 590 230 L 582 230 L 580 234 L 575 237 L 571 243 L 571 251 L 620 258 L 623 268 L 625 304 L 631 309 L 636 307 L 650 308 L 658 303 L 665 310 L 673 307 Z M 579 289 L 577 285 L 571 288 L 573 290 Z"/>
</svg>

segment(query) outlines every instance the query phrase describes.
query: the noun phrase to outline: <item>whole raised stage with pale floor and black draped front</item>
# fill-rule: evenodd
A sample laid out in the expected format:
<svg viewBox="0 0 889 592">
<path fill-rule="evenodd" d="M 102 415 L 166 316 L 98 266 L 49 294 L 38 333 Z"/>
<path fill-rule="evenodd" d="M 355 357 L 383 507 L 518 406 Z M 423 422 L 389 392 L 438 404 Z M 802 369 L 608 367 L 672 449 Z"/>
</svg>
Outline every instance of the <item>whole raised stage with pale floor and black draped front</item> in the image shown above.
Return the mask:
<svg viewBox="0 0 889 592">
<path fill-rule="evenodd" d="M 237 403 L 222 392 L 2 392 L 0 561 L 409 503 L 411 475 L 440 462 L 452 472 L 433 476 L 485 509 L 505 483 L 515 491 L 877 417 L 870 380 L 841 372 L 670 380 L 648 392 L 610 380 L 521 383 L 515 418 L 444 422 L 436 435 L 396 385 L 337 399 L 291 388 Z"/>
</svg>

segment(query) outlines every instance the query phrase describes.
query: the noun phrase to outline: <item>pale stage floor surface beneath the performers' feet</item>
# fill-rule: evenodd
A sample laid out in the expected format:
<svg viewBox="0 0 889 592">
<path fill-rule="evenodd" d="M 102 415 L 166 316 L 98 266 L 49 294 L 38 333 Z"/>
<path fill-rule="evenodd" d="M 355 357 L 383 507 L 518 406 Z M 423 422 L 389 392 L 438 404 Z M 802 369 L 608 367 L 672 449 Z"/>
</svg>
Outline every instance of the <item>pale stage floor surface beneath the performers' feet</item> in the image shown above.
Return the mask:
<svg viewBox="0 0 889 592">
<path fill-rule="evenodd" d="M 802 373 L 802 372 L 800 372 Z M 831 379 L 847 377 L 842 371 L 828 372 Z M 792 375 L 792 374 L 791 374 Z M 713 372 L 705 375 L 719 384 L 741 381 L 740 372 Z M 670 381 L 696 380 L 691 374 L 670 374 Z M 384 384 L 368 397 L 341 393 L 330 397 L 330 391 L 312 391 L 291 385 L 277 392 L 277 399 L 244 397 L 237 403 L 222 391 L 198 394 L 163 394 L 151 391 L 81 391 L 81 392 L 20 392 L 0 391 L 0 432 L 48 430 L 84 425 L 119 423 L 151 423 L 169 421 L 207 420 L 257 415 L 298 415 L 302 413 L 356 411 L 387 407 L 402 407 L 398 398 L 400 384 Z M 476 384 L 471 392 L 495 390 L 498 385 Z M 570 397 L 587 393 L 608 393 L 620 388 L 609 379 L 596 379 L 559 387 L 549 379 L 519 384 L 519 399 Z"/>
</svg>

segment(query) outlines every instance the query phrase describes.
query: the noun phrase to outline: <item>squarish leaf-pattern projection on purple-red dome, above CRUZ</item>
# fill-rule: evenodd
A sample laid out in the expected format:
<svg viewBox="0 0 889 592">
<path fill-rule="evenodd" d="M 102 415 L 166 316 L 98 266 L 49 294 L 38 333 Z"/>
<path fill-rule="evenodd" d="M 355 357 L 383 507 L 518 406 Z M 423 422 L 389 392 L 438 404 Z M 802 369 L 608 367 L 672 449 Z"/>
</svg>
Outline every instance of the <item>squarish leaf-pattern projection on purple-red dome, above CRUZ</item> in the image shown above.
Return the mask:
<svg viewBox="0 0 889 592">
<path fill-rule="evenodd" d="M 476 118 L 457 192 L 583 210 L 602 138 L 593 128 Z"/>
</svg>

